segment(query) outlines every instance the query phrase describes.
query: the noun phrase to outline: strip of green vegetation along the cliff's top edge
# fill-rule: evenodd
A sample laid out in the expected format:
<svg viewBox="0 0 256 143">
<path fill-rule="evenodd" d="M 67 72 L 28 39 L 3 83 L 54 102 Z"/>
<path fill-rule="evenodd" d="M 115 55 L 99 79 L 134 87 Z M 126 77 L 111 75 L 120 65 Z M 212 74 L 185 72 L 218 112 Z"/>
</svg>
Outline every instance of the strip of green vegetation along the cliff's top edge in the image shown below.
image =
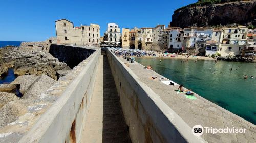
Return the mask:
<svg viewBox="0 0 256 143">
<path fill-rule="evenodd" d="M 179 10 L 182 10 L 184 8 L 189 8 L 189 7 L 200 7 L 200 6 L 209 6 L 209 5 L 214 5 L 214 4 L 222 4 L 222 3 L 228 3 L 228 2 L 239 2 L 239 1 L 245 1 L 245 0 L 198 0 L 197 3 L 194 4 L 189 4 L 187 6 L 181 7 L 174 12 L 177 12 Z"/>
</svg>

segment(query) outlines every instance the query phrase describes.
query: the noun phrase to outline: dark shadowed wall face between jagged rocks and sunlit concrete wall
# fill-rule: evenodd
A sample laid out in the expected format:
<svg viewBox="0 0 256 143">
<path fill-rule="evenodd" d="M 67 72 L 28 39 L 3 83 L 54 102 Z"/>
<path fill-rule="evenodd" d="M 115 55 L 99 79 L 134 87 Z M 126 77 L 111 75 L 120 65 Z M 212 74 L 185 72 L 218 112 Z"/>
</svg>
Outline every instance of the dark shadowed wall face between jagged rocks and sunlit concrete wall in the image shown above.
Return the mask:
<svg viewBox="0 0 256 143">
<path fill-rule="evenodd" d="M 73 68 L 89 57 L 94 51 L 94 49 L 52 44 L 49 53 L 53 57 L 58 58 L 60 62 L 65 62 L 70 68 Z"/>
</svg>

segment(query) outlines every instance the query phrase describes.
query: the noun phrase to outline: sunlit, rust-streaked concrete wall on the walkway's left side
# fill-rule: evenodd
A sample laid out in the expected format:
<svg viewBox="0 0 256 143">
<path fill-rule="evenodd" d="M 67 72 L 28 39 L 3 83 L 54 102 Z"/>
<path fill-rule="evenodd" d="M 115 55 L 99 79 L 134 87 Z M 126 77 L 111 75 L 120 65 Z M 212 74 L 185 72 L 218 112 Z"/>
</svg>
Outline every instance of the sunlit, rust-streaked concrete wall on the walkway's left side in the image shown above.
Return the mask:
<svg viewBox="0 0 256 143">
<path fill-rule="evenodd" d="M 58 100 L 39 118 L 37 123 L 20 139 L 20 143 L 80 142 L 81 131 L 90 106 L 101 50 L 76 66 L 62 78 L 58 90 L 49 90 L 45 96 L 58 94 Z M 74 79 L 73 79 L 74 78 Z M 72 81 L 70 84 L 69 81 Z M 65 82 L 64 82 L 65 81 Z M 68 84 L 68 85 L 65 85 Z"/>
</svg>

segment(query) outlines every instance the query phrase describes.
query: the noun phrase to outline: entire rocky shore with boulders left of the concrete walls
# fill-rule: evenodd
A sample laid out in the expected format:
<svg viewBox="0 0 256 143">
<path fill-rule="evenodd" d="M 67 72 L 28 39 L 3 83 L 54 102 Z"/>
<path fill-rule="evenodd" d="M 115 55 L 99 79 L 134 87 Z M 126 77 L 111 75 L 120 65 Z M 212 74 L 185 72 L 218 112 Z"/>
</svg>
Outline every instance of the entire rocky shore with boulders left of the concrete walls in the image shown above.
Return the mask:
<svg viewBox="0 0 256 143">
<path fill-rule="evenodd" d="M 14 70 L 17 78 L 11 83 L 0 84 L 0 129 L 5 131 L 5 126 L 14 123 L 18 116 L 35 112 L 38 105 L 35 109 L 32 107 L 35 101 L 40 103 L 41 94 L 71 71 L 66 63 L 59 62 L 42 47 L 1 48 L 0 76 L 8 75 L 9 68 Z M 16 90 L 20 97 L 15 94 Z"/>
</svg>

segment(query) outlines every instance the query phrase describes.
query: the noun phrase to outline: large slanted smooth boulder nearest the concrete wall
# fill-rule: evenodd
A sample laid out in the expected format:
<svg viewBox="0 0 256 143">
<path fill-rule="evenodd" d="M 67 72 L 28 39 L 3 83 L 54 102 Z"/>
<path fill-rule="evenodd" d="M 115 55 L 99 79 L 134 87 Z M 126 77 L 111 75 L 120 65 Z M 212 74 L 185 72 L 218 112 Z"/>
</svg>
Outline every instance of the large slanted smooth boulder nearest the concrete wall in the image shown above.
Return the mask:
<svg viewBox="0 0 256 143">
<path fill-rule="evenodd" d="M 36 99 L 39 98 L 41 93 L 44 93 L 48 90 L 52 85 L 54 85 L 57 81 L 46 76 L 41 75 L 33 85 L 27 90 L 27 92 L 23 95 L 23 99 Z"/>
</svg>

